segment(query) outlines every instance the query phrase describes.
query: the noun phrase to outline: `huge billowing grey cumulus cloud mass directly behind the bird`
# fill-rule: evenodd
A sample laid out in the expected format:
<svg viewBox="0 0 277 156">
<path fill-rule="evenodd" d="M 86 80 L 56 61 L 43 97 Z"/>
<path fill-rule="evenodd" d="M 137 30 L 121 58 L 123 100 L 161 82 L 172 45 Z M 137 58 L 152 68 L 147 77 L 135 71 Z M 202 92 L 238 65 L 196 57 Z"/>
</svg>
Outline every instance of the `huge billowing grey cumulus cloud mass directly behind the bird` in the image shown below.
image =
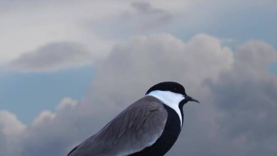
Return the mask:
<svg viewBox="0 0 277 156">
<path fill-rule="evenodd" d="M 268 72 L 272 61 L 276 51 L 262 41 L 249 41 L 232 52 L 206 34 L 188 42 L 170 34 L 132 37 L 95 63 L 85 99 L 64 99 L 56 112 L 44 111 L 24 128 L 18 153 L 66 155 L 150 86 L 177 81 L 201 104 L 185 105 L 183 131 L 167 155 L 276 155 L 277 77 Z"/>
</svg>

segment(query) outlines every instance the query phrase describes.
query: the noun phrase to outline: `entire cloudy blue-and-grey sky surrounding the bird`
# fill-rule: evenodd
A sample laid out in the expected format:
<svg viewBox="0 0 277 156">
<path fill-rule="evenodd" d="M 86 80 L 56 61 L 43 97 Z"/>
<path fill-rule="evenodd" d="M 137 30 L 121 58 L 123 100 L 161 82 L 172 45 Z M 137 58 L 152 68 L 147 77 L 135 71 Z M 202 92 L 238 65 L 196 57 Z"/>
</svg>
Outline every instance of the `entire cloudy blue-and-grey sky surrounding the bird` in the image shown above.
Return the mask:
<svg viewBox="0 0 277 156">
<path fill-rule="evenodd" d="M 276 16 L 270 0 L 0 0 L 0 156 L 66 155 L 162 81 L 202 102 L 167 155 L 276 155 Z"/>
</svg>

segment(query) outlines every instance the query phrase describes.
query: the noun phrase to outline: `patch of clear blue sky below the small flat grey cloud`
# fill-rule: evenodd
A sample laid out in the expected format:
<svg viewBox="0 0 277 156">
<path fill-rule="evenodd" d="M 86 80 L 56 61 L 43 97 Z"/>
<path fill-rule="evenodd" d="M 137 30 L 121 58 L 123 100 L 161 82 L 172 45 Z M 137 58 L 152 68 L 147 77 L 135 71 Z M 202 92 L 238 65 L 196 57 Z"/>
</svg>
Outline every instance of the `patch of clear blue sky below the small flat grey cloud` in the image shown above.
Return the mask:
<svg viewBox="0 0 277 156">
<path fill-rule="evenodd" d="M 54 111 L 64 97 L 81 100 L 92 79 L 91 65 L 52 72 L 6 71 L 0 76 L 1 109 L 30 123 L 42 110 Z"/>
</svg>

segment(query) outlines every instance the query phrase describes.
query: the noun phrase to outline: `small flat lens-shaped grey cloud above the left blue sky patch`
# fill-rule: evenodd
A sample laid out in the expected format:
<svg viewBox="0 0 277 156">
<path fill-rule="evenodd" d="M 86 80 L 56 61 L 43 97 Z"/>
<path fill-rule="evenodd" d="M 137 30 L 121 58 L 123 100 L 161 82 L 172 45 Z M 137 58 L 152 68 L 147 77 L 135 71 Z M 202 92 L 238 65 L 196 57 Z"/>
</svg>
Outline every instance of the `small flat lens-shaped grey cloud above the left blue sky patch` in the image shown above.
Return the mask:
<svg viewBox="0 0 277 156">
<path fill-rule="evenodd" d="M 19 71 L 54 71 L 88 64 L 91 60 L 91 52 L 85 46 L 72 42 L 56 42 L 21 54 L 9 66 Z"/>
</svg>

